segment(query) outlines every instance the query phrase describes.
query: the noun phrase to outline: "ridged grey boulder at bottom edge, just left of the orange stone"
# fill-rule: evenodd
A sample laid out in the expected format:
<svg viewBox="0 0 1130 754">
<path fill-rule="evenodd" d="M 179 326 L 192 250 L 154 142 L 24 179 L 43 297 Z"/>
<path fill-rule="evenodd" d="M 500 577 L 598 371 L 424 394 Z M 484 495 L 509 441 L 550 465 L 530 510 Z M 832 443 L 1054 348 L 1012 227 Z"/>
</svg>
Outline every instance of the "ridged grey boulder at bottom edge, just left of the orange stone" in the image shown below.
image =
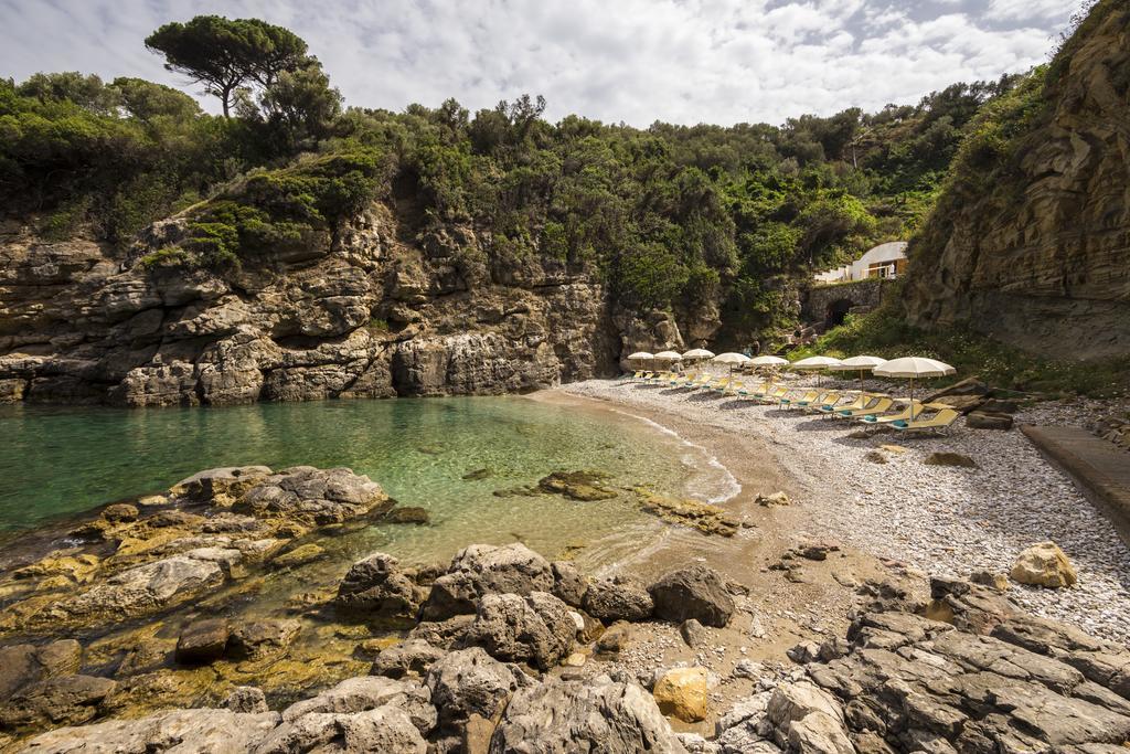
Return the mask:
<svg viewBox="0 0 1130 754">
<path fill-rule="evenodd" d="M 490 754 L 686 754 L 644 688 L 615 683 L 547 679 L 514 694 L 495 730 Z"/>
</svg>

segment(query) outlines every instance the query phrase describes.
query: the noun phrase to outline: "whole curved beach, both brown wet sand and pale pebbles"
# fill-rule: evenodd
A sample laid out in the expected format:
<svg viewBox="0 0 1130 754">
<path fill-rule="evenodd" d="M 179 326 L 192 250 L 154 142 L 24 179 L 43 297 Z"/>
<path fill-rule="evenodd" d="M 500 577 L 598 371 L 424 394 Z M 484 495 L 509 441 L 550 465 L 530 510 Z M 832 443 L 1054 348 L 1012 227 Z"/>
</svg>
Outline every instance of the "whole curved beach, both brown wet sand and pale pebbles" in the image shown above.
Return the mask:
<svg viewBox="0 0 1130 754">
<path fill-rule="evenodd" d="M 753 592 L 771 587 L 771 601 L 786 606 L 771 618 L 788 618 L 784 612 L 796 614 L 798 604 L 809 604 L 812 619 L 802 616 L 796 623 L 834 632 L 845 621 L 834 613 L 846 601 L 842 584 L 861 580 L 858 571 L 881 563 L 940 577 L 1007 574 L 1020 551 L 1051 539 L 1070 557 L 1078 583 L 1058 590 L 1014 583 L 1009 596 L 1038 615 L 1130 641 L 1130 551 L 1071 479 L 1018 430 L 972 430 L 959 422 L 949 436 L 851 439 L 858 426 L 850 422 L 715 392 L 592 380 L 539 393 L 542 400 L 576 398 L 600 400 L 678 432 L 707 449 L 742 486 L 723 506 L 755 528 L 724 544 L 678 538 L 632 570 L 704 558 L 754 584 Z M 1018 424 L 1080 423 L 1085 408 L 1043 402 L 1016 418 Z M 935 451 L 970 456 L 976 467 L 924 465 Z M 869 453 L 885 462 L 869 460 Z M 777 491 L 789 494 L 793 505 L 766 509 L 754 502 L 758 493 Z M 808 584 L 789 583 L 780 571 L 766 570 L 788 547 L 814 539 L 843 543 L 851 566 L 823 574 L 829 578 L 815 575 Z"/>
</svg>

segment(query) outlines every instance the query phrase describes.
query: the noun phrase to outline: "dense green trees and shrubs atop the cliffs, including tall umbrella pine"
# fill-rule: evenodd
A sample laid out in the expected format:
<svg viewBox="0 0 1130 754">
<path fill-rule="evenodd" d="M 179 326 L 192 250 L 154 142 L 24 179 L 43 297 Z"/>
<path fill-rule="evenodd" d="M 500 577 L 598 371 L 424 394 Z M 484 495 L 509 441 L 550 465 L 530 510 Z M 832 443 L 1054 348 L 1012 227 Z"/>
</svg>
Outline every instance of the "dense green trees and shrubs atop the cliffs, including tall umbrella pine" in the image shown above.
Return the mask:
<svg viewBox="0 0 1130 754">
<path fill-rule="evenodd" d="M 722 294 L 738 329 L 786 317 L 790 277 L 913 232 L 979 109 L 1016 84 L 780 127 L 636 129 L 549 123 L 529 96 L 473 114 L 454 99 L 342 111 L 305 43 L 258 20 L 198 17 L 146 44 L 225 115 L 138 79 L 0 81 L 7 211 L 124 246 L 188 208 L 190 240 L 147 263 L 225 269 L 332 239 L 395 185 L 417 232 L 471 226 L 495 267 L 537 255 L 589 268 L 637 309 Z"/>
</svg>

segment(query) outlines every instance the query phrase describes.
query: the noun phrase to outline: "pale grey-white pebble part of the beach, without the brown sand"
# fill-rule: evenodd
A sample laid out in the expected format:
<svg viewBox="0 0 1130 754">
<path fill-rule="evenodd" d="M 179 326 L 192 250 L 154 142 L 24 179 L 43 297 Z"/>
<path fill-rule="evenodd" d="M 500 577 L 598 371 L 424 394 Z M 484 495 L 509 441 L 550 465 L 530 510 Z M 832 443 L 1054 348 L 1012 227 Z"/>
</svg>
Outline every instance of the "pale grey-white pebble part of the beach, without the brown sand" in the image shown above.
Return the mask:
<svg viewBox="0 0 1130 754">
<path fill-rule="evenodd" d="M 885 387 L 889 391 L 890 385 Z M 1018 430 L 971 430 L 959 421 L 944 437 L 878 434 L 853 440 L 847 435 L 859 424 L 718 393 L 609 380 L 564 390 L 757 433 L 775 461 L 806 489 L 801 502 L 827 534 L 929 574 L 1008 573 L 1022 549 L 1052 539 L 1075 564 L 1079 582 L 1060 590 L 1014 586 L 1010 596 L 1038 615 L 1130 643 L 1130 549 L 1071 479 Z M 1016 418 L 1018 424 L 1084 425 L 1102 409 L 1101 404 L 1081 400 L 1043 402 L 1022 409 Z M 894 443 L 903 450 L 880 448 Z M 922 462 L 942 450 L 972 457 L 977 468 Z M 887 462 L 868 460 L 871 451 Z"/>
</svg>

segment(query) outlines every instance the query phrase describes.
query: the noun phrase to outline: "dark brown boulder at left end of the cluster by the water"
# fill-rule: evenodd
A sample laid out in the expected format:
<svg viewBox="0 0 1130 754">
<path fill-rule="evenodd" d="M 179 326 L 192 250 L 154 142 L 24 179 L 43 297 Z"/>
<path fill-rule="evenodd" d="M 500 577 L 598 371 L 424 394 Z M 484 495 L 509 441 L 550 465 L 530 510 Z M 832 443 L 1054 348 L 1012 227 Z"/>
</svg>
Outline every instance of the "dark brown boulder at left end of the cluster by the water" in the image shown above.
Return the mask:
<svg viewBox="0 0 1130 754">
<path fill-rule="evenodd" d="M 354 563 L 338 587 L 339 610 L 402 626 L 416 623 L 426 591 L 391 555 L 375 553 Z"/>
</svg>

